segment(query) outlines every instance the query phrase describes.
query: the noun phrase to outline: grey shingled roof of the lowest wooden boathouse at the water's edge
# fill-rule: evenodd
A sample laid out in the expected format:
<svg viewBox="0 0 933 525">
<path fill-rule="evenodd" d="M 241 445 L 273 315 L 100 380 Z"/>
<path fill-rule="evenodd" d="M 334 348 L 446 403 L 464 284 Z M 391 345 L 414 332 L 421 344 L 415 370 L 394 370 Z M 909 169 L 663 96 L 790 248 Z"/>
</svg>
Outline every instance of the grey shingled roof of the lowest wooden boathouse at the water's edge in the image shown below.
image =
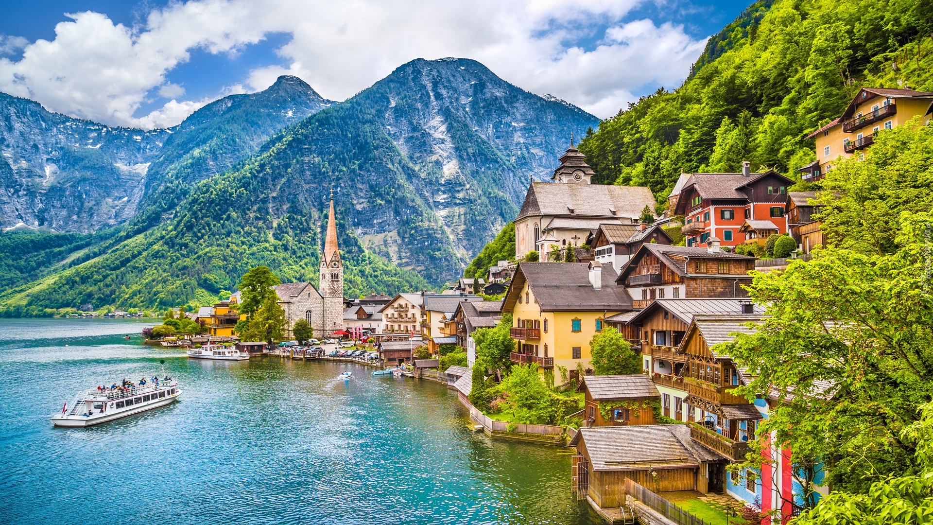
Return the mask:
<svg viewBox="0 0 933 525">
<path fill-rule="evenodd" d="M 593 471 L 689 468 L 722 460 L 693 443 L 687 425 L 592 427 L 579 432 Z"/>
</svg>

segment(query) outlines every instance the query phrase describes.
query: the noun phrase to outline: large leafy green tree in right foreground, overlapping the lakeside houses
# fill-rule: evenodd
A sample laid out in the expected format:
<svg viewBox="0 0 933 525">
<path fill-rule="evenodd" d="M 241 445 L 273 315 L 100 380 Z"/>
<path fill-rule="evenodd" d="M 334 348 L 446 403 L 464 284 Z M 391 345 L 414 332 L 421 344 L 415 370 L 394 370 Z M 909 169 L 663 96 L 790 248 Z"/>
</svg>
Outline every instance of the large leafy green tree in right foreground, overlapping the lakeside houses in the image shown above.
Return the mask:
<svg viewBox="0 0 933 525">
<path fill-rule="evenodd" d="M 899 222 L 891 255 L 829 249 L 784 272 L 756 273 L 749 296 L 768 305 L 767 316 L 717 349 L 753 378 L 741 393 L 774 392 L 757 434 L 803 467 L 792 469 L 802 507 L 815 503 L 822 474 L 834 490 L 866 493 L 872 479 L 919 472 L 900 435 L 933 398 L 933 214 L 903 212 Z"/>
</svg>

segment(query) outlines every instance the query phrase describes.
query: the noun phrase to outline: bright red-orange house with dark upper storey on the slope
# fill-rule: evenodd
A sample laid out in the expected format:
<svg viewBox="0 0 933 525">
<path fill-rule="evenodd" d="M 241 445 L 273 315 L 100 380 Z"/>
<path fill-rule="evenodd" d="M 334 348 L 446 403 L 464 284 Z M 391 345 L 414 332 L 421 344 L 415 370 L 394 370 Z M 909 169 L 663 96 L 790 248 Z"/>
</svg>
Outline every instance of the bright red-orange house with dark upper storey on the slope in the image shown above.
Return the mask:
<svg viewBox="0 0 933 525">
<path fill-rule="evenodd" d="M 734 247 L 744 239 L 738 235 L 745 220 L 769 220 L 778 233 L 787 233 L 785 202 L 794 181 L 773 170 L 751 173 L 742 163 L 742 173 L 693 173 L 678 190 L 674 213 L 686 218 L 681 232 L 687 246 L 705 245 L 717 238 Z"/>
</svg>

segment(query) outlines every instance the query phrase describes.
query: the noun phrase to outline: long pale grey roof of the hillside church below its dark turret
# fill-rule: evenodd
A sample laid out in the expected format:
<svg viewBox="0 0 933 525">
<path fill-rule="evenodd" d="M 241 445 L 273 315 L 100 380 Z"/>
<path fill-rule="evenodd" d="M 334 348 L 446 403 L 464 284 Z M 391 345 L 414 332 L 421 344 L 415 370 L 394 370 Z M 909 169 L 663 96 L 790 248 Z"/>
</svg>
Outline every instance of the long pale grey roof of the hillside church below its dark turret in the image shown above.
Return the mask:
<svg viewBox="0 0 933 525">
<path fill-rule="evenodd" d="M 529 215 L 641 217 L 646 205 L 654 206 L 655 200 L 651 190 L 643 186 L 532 182 L 516 220 Z"/>
</svg>

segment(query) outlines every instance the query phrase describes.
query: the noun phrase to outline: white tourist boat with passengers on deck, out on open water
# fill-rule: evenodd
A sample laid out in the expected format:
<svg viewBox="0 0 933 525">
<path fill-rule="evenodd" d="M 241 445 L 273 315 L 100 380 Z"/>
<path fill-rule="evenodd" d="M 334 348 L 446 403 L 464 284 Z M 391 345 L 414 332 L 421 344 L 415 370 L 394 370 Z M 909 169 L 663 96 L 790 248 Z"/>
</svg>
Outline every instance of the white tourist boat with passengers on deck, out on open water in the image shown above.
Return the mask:
<svg viewBox="0 0 933 525">
<path fill-rule="evenodd" d="M 90 427 L 171 404 L 180 395 L 178 382 L 169 377 L 113 390 L 92 389 L 78 393 L 51 421 L 56 427 Z"/>
</svg>

